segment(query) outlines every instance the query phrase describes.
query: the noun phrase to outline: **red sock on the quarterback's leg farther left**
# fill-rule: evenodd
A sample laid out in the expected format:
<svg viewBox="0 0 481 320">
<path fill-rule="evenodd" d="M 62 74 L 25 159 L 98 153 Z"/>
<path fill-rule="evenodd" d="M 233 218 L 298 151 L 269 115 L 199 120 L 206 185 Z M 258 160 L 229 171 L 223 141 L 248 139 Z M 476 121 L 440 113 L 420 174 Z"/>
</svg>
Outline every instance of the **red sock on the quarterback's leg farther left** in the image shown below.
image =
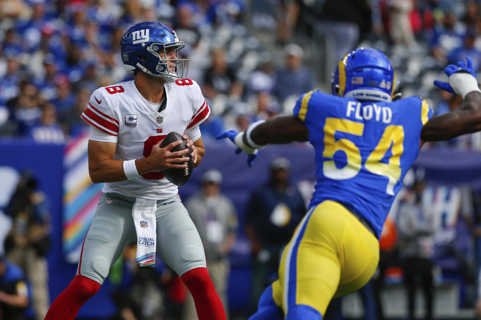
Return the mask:
<svg viewBox="0 0 481 320">
<path fill-rule="evenodd" d="M 74 276 L 69 286 L 54 300 L 45 320 L 74 320 L 80 307 L 100 288 L 100 283 L 82 275 Z"/>
</svg>

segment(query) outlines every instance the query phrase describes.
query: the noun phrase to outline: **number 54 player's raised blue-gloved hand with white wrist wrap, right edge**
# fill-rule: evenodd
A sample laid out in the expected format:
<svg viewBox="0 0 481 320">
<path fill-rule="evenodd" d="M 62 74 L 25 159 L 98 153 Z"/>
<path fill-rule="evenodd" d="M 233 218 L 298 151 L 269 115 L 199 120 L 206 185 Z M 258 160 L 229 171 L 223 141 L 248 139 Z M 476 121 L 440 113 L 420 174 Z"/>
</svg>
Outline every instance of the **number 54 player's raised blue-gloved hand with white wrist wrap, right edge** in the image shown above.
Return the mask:
<svg viewBox="0 0 481 320">
<path fill-rule="evenodd" d="M 471 91 L 479 91 L 476 75 L 472 67 L 472 60 L 466 56 L 467 65 L 462 61 L 458 61 L 457 65 L 449 64 L 444 68 L 444 73 L 449 77 L 449 82 L 434 80 L 434 85 L 441 89 L 466 96 Z"/>
</svg>

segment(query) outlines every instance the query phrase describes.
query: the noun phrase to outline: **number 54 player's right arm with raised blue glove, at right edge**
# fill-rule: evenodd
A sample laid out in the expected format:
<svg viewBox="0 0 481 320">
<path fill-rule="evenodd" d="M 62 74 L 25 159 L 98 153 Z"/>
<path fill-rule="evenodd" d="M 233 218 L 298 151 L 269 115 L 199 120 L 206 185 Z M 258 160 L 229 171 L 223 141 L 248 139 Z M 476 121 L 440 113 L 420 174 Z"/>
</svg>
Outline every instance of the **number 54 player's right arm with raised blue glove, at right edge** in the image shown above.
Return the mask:
<svg viewBox="0 0 481 320">
<path fill-rule="evenodd" d="M 459 61 L 449 64 L 444 72 L 449 83 L 434 81 L 443 90 L 463 97 L 459 107 L 451 112 L 431 118 L 421 130 L 423 141 L 452 139 L 458 135 L 481 130 L 481 90 L 479 90 L 472 60 L 466 57 L 467 64 Z"/>
</svg>

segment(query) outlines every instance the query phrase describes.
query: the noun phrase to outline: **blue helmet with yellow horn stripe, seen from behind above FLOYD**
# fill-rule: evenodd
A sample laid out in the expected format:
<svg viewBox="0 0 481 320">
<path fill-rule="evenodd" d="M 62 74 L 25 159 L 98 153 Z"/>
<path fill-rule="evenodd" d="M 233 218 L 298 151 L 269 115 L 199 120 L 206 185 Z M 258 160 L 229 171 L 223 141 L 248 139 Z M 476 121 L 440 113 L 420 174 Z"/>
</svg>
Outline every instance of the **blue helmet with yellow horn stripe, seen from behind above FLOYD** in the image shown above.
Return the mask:
<svg viewBox="0 0 481 320">
<path fill-rule="evenodd" d="M 387 56 L 363 47 L 346 54 L 331 79 L 332 94 L 368 101 L 391 102 L 395 84 L 396 74 Z"/>
</svg>

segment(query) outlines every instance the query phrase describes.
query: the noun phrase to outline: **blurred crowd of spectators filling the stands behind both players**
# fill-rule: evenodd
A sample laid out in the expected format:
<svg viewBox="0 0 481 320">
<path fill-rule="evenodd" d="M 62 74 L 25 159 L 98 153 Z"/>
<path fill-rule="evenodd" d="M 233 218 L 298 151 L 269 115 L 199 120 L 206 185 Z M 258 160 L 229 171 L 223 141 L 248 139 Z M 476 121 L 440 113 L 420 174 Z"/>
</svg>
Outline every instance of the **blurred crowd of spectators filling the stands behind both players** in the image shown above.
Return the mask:
<svg viewBox="0 0 481 320">
<path fill-rule="evenodd" d="M 328 88 L 337 61 L 360 44 L 385 51 L 400 92 L 429 98 L 438 113 L 457 105 L 432 86 L 446 63 L 467 55 L 476 70 L 481 64 L 478 1 L 4 0 L 0 135 L 63 143 L 84 132 L 79 115 L 91 92 L 131 79 L 121 35 L 149 19 L 185 43 L 188 77 L 212 109 L 207 139 L 290 113 L 299 94 Z M 313 44 L 319 39 L 327 45 Z"/>
</svg>

